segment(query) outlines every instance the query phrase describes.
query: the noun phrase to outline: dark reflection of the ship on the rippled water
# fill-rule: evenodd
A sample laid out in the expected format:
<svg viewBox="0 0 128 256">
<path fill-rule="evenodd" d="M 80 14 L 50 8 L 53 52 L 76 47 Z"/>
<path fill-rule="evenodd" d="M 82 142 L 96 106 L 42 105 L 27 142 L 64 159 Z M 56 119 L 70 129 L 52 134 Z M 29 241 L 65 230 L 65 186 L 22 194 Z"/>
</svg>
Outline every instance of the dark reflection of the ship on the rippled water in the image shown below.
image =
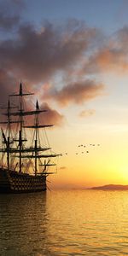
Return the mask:
<svg viewBox="0 0 128 256">
<path fill-rule="evenodd" d="M 46 193 L 0 196 L 2 255 L 49 255 L 46 198 Z"/>
</svg>

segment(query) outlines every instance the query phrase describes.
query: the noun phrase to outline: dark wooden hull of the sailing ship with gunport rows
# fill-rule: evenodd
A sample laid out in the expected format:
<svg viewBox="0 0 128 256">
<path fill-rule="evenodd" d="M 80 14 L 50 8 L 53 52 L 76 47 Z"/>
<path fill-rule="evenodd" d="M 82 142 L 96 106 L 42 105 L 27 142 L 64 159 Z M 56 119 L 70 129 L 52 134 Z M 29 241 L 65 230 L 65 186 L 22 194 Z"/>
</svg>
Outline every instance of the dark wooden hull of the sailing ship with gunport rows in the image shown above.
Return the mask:
<svg viewBox="0 0 128 256">
<path fill-rule="evenodd" d="M 31 193 L 46 190 L 46 177 L 0 168 L 0 193 Z"/>
</svg>

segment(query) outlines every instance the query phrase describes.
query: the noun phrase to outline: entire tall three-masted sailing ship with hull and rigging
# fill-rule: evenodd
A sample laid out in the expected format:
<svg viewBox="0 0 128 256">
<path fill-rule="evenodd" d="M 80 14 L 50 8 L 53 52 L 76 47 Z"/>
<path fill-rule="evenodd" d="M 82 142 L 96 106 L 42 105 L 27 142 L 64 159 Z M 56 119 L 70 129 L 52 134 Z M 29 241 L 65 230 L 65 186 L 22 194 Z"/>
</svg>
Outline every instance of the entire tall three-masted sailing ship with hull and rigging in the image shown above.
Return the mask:
<svg viewBox="0 0 128 256">
<path fill-rule="evenodd" d="M 3 107 L 6 120 L 0 122 L 0 193 L 45 191 L 46 178 L 53 173 L 49 172 L 49 167 L 55 166 L 52 160 L 60 155 L 52 153 L 46 136 L 45 129 L 53 125 L 39 122 L 40 115 L 47 110 L 40 109 L 38 101 L 35 110 L 25 109 L 25 97 L 32 95 L 24 92 L 20 83 L 19 92 L 10 95 L 8 106 Z M 10 102 L 13 97 L 18 97 L 18 108 Z M 29 116 L 32 116 L 32 125 Z M 26 119 L 29 120 L 28 125 Z M 32 132 L 31 137 L 26 129 Z M 44 142 L 41 133 L 44 134 Z"/>
</svg>

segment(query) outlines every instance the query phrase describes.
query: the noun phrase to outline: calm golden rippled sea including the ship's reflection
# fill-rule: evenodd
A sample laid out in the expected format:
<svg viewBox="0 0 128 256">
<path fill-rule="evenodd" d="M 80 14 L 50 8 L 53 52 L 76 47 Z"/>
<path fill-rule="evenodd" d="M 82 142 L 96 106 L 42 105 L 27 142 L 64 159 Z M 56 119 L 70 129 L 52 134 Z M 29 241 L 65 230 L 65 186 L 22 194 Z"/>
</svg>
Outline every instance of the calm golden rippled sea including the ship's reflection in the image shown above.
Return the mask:
<svg viewBox="0 0 128 256">
<path fill-rule="evenodd" d="M 128 255 L 128 191 L 0 195 L 0 255 Z"/>
</svg>

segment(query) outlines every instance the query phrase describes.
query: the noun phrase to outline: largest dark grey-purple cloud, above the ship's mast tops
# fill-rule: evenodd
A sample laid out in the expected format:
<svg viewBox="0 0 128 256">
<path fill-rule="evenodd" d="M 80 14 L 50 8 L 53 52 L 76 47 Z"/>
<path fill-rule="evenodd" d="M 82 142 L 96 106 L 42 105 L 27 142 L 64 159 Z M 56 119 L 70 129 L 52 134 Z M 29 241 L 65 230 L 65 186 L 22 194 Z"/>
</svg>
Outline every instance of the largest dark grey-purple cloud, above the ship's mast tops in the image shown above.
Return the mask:
<svg viewBox="0 0 128 256">
<path fill-rule="evenodd" d="M 72 30 L 69 25 L 55 28 L 49 23 L 41 31 L 31 25 L 20 26 L 17 38 L 0 44 L 1 65 L 16 77 L 39 83 L 78 65 L 95 37 L 96 30 L 79 21 Z"/>
</svg>

